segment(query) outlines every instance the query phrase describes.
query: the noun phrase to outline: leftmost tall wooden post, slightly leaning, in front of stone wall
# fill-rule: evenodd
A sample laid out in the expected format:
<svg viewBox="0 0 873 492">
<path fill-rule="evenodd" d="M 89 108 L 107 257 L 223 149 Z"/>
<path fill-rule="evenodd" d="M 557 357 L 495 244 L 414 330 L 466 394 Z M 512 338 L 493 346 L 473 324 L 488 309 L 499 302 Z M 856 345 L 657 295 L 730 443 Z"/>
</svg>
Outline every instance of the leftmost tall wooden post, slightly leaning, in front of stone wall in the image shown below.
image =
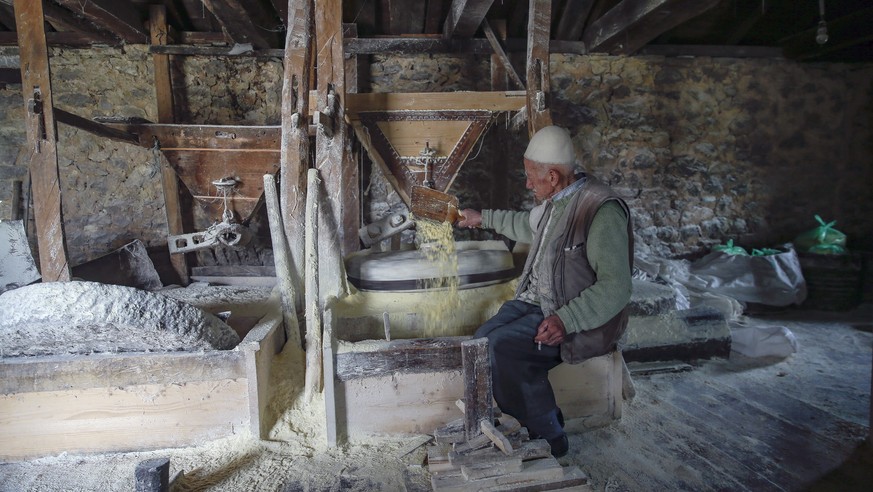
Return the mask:
<svg viewBox="0 0 873 492">
<path fill-rule="evenodd" d="M 70 265 L 64 238 L 57 126 L 42 2 L 15 0 L 13 9 L 21 58 L 27 144 L 33 149 L 30 175 L 40 273 L 43 282 L 67 281 L 70 280 Z"/>
</svg>

